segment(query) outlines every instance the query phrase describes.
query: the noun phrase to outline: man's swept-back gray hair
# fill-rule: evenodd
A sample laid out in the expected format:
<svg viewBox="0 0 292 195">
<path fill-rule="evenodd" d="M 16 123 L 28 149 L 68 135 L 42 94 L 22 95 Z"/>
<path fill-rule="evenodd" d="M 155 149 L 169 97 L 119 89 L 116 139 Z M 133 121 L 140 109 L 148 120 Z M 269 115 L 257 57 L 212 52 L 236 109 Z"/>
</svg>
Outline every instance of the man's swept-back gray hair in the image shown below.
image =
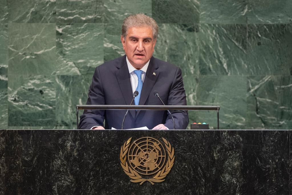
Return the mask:
<svg viewBox="0 0 292 195">
<path fill-rule="evenodd" d="M 130 27 L 150 26 L 153 32 L 153 38 L 156 39 L 158 35 L 158 26 L 155 20 L 143 13 L 129 15 L 125 18 L 122 25 L 122 36 L 125 38 Z"/>
</svg>

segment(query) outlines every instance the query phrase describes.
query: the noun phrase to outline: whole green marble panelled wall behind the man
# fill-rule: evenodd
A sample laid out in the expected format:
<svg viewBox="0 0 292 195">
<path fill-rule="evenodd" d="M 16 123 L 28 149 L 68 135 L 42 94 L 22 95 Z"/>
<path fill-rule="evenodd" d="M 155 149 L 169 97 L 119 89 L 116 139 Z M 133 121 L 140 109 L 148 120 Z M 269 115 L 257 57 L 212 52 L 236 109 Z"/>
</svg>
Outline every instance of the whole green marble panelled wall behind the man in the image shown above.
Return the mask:
<svg viewBox="0 0 292 195">
<path fill-rule="evenodd" d="M 93 70 L 124 55 L 122 20 L 159 23 L 154 56 L 222 129 L 292 128 L 291 0 L 0 0 L 0 129 L 74 129 Z M 190 111 L 216 127 L 216 112 Z"/>
</svg>

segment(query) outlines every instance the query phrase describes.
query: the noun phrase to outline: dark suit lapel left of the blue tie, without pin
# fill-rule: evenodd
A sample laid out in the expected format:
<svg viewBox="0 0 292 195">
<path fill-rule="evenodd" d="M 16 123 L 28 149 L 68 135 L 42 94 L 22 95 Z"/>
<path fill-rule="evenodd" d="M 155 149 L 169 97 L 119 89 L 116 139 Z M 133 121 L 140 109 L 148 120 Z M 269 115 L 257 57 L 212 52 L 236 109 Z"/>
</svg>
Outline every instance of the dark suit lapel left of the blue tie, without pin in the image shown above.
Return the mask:
<svg viewBox="0 0 292 195">
<path fill-rule="evenodd" d="M 124 57 L 122 63 L 119 66 L 117 66 L 117 68 L 118 70 L 115 71 L 115 74 L 119 83 L 119 87 L 123 94 L 126 105 L 130 105 L 133 99 L 133 93 L 132 93 L 129 69 L 126 62 L 126 56 Z M 129 112 L 131 113 L 132 117 L 135 117 L 135 114 L 136 114 L 135 110 L 130 110 Z"/>
</svg>

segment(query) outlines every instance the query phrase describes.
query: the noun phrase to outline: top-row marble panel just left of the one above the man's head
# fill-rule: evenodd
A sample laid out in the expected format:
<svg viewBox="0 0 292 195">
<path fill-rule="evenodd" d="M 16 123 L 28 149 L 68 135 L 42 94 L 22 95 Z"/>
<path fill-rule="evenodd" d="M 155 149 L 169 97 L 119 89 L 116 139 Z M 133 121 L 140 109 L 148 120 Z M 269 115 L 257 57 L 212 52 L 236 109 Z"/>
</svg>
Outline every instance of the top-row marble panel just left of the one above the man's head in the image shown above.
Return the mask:
<svg viewBox="0 0 292 195">
<path fill-rule="evenodd" d="M 58 0 L 57 23 L 103 23 L 104 0 Z"/>
</svg>

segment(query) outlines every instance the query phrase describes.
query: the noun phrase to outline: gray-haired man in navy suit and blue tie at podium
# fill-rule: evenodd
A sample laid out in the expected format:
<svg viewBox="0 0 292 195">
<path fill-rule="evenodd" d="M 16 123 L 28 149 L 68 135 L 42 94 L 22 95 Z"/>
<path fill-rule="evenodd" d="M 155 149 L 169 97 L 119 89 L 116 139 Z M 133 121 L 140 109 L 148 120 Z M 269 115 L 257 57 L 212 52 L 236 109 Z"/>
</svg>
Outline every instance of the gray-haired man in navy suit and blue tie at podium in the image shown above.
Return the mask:
<svg viewBox="0 0 292 195">
<path fill-rule="evenodd" d="M 88 105 L 186 105 L 180 68 L 152 56 L 158 26 L 145 14 L 128 16 L 122 25 L 121 42 L 126 55 L 105 62 L 95 69 L 88 92 Z M 171 40 L 169 40 L 171 41 Z M 137 93 L 135 92 L 135 93 Z M 79 129 L 121 129 L 125 110 L 84 110 Z M 176 129 L 185 129 L 187 111 L 171 111 Z M 105 120 L 105 124 L 104 124 Z M 149 129 L 173 129 L 167 111 L 130 110 L 124 129 L 147 126 Z"/>
</svg>

